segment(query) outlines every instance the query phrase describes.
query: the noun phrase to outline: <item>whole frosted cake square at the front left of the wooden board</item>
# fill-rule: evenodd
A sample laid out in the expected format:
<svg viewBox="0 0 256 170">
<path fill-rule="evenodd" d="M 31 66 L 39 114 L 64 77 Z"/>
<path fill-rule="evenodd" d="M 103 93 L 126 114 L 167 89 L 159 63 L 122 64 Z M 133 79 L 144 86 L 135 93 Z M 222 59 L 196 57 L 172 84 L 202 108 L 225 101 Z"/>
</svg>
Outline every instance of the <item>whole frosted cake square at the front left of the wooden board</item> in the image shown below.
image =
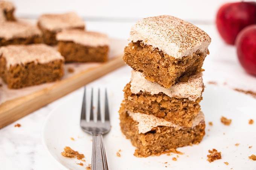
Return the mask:
<svg viewBox="0 0 256 170">
<path fill-rule="evenodd" d="M 64 58 L 44 44 L 8 45 L 0 48 L 0 77 L 9 88 L 59 80 L 64 74 Z"/>
</svg>

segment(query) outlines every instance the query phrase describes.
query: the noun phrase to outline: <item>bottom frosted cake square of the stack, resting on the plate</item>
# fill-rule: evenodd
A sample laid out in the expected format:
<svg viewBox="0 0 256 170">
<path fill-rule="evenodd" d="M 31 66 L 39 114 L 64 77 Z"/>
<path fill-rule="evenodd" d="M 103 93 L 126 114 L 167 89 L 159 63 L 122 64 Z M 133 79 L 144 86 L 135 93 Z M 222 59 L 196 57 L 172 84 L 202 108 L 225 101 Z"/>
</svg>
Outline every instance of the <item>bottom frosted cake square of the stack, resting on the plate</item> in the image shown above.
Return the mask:
<svg viewBox="0 0 256 170">
<path fill-rule="evenodd" d="M 146 157 L 168 153 L 171 149 L 200 143 L 205 134 L 204 114 L 200 111 L 191 128 L 183 128 L 162 118 L 119 110 L 120 127 L 136 147 L 135 156 Z"/>
</svg>

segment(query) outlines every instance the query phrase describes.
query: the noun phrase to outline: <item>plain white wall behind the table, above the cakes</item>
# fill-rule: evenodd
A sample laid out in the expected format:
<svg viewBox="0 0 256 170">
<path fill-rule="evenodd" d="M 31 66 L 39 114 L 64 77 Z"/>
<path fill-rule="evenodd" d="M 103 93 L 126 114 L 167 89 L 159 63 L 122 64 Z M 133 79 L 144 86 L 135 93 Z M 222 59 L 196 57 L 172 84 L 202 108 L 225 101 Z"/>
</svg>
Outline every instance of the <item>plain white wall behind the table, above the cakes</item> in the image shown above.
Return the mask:
<svg viewBox="0 0 256 170">
<path fill-rule="evenodd" d="M 134 20 L 173 15 L 189 21 L 213 22 L 217 9 L 233 0 L 13 0 L 17 15 L 38 17 L 43 13 L 76 11 L 85 19 Z"/>
</svg>

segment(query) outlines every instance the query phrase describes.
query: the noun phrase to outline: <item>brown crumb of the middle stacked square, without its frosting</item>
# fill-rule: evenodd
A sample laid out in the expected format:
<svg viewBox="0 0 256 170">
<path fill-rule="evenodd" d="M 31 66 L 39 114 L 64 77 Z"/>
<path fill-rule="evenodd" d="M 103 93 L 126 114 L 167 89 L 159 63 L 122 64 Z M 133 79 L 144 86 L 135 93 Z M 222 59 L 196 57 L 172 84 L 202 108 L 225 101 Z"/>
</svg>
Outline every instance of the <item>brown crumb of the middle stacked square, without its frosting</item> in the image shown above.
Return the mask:
<svg viewBox="0 0 256 170">
<path fill-rule="evenodd" d="M 131 84 L 124 88 L 124 107 L 134 113 L 152 114 L 175 124 L 191 127 L 192 120 L 201 110 L 199 102 L 203 97 L 191 101 L 187 98 L 169 97 L 164 93 L 151 95 L 147 92 L 134 94 L 131 92 Z"/>
</svg>

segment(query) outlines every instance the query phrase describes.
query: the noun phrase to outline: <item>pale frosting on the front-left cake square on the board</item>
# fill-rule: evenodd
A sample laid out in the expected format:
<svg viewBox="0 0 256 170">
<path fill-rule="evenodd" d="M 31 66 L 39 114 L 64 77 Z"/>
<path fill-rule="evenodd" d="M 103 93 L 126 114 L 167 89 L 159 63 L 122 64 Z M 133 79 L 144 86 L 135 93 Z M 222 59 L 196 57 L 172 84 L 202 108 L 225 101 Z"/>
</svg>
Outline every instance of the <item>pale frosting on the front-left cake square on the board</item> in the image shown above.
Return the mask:
<svg viewBox="0 0 256 170">
<path fill-rule="evenodd" d="M 64 60 L 58 51 L 44 44 L 8 45 L 0 48 L 0 56 L 5 57 L 6 68 L 29 62 L 48 63 Z"/>
</svg>

